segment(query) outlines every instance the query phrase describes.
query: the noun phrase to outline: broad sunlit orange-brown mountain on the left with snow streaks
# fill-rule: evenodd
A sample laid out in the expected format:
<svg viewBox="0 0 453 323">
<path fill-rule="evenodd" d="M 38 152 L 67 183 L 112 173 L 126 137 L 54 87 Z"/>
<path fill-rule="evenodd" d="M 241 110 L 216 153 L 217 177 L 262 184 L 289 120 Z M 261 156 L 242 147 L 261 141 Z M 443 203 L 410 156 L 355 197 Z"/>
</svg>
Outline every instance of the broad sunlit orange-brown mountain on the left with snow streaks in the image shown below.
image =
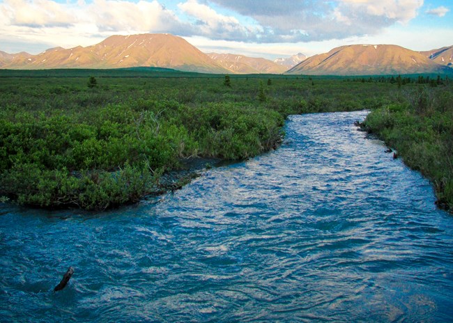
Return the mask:
<svg viewBox="0 0 453 323">
<path fill-rule="evenodd" d="M 187 72 L 229 72 L 183 38 L 161 33 L 111 36 L 88 47 L 55 47 L 38 55 L 20 53 L 12 56 L 13 58 L 5 55 L 4 59 L 0 56 L 0 67 L 47 69 L 146 66 Z"/>
</svg>

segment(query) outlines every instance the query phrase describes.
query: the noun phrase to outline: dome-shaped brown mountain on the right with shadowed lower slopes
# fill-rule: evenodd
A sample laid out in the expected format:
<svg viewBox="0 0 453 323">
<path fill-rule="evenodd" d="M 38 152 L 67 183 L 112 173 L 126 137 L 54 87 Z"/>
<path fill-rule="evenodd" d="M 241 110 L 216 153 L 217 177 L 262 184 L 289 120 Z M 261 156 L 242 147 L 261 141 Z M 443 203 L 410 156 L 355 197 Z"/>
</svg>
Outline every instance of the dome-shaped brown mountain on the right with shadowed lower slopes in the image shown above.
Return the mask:
<svg viewBox="0 0 453 323">
<path fill-rule="evenodd" d="M 445 72 L 426 56 L 397 45 L 347 45 L 307 58 L 288 71 L 310 75 L 378 75 Z"/>
</svg>

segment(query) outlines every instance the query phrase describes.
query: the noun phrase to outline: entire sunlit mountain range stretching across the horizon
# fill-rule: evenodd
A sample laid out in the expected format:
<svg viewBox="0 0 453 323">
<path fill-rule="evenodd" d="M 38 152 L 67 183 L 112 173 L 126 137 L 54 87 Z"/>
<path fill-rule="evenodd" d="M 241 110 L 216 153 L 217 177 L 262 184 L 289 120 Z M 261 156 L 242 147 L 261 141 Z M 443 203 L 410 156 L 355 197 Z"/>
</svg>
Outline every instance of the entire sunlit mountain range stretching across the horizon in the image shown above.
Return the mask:
<svg viewBox="0 0 453 323">
<path fill-rule="evenodd" d="M 55 47 L 37 55 L 0 52 L 1 69 L 172 68 L 219 74 L 371 75 L 453 72 L 453 46 L 414 52 L 397 45 L 347 45 L 307 58 L 270 61 L 238 54 L 205 54 L 169 34 L 111 36 L 88 47 Z"/>
</svg>

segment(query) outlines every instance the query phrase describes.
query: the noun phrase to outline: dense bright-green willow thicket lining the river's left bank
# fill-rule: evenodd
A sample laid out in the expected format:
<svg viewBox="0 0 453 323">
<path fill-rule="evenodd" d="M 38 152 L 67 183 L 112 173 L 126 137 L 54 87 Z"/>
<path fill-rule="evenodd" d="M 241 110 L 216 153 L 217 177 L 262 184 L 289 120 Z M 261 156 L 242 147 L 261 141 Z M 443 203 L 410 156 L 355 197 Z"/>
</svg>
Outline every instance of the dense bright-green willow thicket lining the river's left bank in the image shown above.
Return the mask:
<svg viewBox="0 0 453 323">
<path fill-rule="evenodd" d="M 128 97 L 79 109 L 2 111 L 0 196 L 104 210 L 155 190 L 158 174 L 181 157 L 245 159 L 269 150 L 284 123 L 277 111 L 233 102 Z"/>
</svg>

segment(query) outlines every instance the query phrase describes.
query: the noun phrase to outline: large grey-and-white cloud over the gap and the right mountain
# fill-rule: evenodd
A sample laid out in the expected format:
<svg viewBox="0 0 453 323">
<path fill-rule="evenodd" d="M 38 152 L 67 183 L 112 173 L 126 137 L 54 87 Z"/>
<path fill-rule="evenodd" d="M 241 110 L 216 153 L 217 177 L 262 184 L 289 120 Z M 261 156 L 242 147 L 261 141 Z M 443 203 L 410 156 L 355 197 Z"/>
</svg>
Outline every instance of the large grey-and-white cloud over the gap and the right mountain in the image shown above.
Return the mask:
<svg viewBox="0 0 453 323">
<path fill-rule="evenodd" d="M 376 34 L 417 16 L 423 0 L 205 0 L 252 17 L 259 42 L 298 42 Z"/>
</svg>

